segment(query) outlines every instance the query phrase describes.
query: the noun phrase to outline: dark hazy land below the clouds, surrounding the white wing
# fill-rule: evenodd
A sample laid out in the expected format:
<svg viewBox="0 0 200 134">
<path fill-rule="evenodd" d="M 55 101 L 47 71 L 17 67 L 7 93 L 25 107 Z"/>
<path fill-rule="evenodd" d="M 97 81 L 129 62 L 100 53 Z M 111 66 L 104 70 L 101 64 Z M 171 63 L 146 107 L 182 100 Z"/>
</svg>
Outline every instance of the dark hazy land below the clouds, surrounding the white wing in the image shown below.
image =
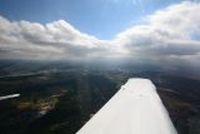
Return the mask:
<svg viewBox="0 0 200 134">
<path fill-rule="evenodd" d="M 150 78 L 180 134 L 200 133 L 200 81 L 140 66 L 1 61 L 2 134 L 74 134 L 130 77 Z"/>
</svg>

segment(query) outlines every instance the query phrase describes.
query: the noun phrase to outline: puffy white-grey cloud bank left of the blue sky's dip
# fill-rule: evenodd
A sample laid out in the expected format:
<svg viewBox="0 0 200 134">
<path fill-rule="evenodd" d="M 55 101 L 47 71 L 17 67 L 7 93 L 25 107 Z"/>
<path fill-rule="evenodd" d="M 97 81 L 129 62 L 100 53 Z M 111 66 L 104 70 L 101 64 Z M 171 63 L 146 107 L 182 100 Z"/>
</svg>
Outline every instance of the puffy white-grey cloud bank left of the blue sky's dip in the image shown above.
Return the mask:
<svg viewBox="0 0 200 134">
<path fill-rule="evenodd" d="M 109 50 L 104 41 L 81 33 L 64 20 L 42 25 L 0 17 L 1 58 L 73 59 Z"/>
</svg>

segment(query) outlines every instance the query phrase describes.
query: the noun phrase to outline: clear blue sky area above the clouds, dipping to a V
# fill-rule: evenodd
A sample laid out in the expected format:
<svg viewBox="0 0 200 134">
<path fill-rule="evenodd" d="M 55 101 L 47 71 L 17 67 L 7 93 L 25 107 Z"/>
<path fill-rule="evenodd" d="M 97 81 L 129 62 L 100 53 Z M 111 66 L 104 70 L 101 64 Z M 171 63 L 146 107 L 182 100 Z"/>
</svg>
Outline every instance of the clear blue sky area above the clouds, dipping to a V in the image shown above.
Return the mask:
<svg viewBox="0 0 200 134">
<path fill-rule="evenodd" d="M 0 0 L 0 13 L 12 21 L 42 24 L 63 19 L 100 39 L 137 24 L 145 15 L 181 0 Z"/>
</svg>

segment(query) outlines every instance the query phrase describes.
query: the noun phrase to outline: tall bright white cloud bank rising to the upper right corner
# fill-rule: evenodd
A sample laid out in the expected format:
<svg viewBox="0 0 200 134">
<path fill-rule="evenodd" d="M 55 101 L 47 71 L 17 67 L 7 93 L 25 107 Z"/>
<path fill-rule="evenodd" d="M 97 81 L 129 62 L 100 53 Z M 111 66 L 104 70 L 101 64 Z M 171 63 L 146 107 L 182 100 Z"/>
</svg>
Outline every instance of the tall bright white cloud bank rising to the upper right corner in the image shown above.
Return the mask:
<svg viewBox="0 0 200 134">
<path fill-rule="evenodd" d="M 145 24 L 119 33 L 114 42 L 130 55 L 150 58 L 199 56 L 200 4 L 183 2 L 147 16 Z M 198 61 L 197 61 L 198 62 Z"/>
</svg>

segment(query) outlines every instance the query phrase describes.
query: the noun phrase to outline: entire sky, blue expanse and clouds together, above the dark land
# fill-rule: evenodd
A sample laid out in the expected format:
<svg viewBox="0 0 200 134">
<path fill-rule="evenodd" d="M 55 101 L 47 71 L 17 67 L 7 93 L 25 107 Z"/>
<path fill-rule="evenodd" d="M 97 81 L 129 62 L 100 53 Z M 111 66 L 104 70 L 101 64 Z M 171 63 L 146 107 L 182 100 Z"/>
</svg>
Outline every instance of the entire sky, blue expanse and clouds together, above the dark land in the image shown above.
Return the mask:
<svg viewBox="0 0 200 134">
<path fill-rule="evenodd" d="M 0 58 L 200 67 L 200 3 L 0 0 Z"/>
</svg>

